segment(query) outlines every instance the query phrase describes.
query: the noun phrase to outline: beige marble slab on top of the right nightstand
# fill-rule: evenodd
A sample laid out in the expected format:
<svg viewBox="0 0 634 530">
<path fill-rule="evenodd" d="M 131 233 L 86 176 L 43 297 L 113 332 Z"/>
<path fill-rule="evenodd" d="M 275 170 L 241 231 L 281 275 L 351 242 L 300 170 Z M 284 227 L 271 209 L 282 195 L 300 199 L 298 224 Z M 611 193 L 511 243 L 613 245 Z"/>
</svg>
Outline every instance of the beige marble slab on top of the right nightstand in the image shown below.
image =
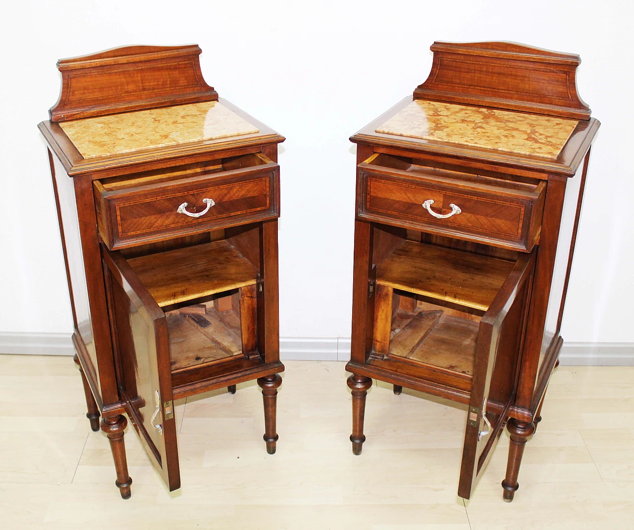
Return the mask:
<svg viewBox="0 0 634 530">
<path fill-rule="evenodd" d="M 376 132 L 554 160 L 577 120 L 414 100 Z"/>
</svg>

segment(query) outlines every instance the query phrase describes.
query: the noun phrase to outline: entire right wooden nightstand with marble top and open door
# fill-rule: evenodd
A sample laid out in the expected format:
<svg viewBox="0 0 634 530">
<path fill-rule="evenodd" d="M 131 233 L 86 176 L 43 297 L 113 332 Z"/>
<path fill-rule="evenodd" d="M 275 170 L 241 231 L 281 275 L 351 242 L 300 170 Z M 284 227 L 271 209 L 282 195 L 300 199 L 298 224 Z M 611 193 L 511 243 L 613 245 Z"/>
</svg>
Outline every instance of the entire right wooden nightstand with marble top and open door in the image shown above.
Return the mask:
<svg viewBox="0 0 634 530">
<path fill-rule="evenodd" d="M 507 425 L 511 501 L 562 346 L 599 122 L 577 94 L 576 55 L 509 42 L 431 49 L 413 97 L 351 138 L 350 439 L 359 455 L 372 378 L 465 404 L 458 494 L 470 497 Z"/>
</svg>

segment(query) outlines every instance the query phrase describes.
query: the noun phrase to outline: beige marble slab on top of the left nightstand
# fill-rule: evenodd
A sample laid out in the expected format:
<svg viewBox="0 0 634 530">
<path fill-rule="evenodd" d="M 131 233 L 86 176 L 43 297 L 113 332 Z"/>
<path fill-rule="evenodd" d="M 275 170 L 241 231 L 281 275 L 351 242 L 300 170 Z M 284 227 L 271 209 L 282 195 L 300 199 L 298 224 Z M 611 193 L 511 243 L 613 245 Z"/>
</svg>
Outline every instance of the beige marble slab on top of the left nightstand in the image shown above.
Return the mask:
<svg viewBox="0 0 634 530">
<path fill-rule="evenodd" d="M 72 120 L 60 127 L 84 158 L 259 132 L 218 101 Z"/>
</svg>

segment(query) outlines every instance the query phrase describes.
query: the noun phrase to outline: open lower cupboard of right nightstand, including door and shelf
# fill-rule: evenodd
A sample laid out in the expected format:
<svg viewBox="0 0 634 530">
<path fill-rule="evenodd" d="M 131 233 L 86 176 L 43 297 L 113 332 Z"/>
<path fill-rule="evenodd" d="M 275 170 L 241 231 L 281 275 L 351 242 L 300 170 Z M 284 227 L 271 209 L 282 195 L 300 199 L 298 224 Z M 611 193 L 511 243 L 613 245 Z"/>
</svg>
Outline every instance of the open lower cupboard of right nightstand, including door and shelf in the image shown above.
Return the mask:
<svg viewBox="0 0 634 530">
<path fill-rule="evenodd" d="M 389 370 L 395 384 L 469 404 L 464 498 L 514 398 L 534 255 L 506 261 L 405 241 L 377 267 L 366 363 Z"/>
</svg>

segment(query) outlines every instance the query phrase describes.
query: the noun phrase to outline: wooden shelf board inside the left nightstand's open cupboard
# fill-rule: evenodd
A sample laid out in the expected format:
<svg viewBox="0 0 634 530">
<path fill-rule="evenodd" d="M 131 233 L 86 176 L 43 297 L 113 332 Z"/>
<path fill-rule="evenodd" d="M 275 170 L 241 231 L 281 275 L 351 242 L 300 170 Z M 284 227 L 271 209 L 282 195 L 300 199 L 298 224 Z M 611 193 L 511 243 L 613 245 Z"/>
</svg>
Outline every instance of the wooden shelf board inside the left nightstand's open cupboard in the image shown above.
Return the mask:
<svg viewBox="0 0 634 530">
<path fill-rule="evenodd" d="M 160 307 L 256 283 L 257 270 L 226 241 L 127 261 Z"/>
</svg>

